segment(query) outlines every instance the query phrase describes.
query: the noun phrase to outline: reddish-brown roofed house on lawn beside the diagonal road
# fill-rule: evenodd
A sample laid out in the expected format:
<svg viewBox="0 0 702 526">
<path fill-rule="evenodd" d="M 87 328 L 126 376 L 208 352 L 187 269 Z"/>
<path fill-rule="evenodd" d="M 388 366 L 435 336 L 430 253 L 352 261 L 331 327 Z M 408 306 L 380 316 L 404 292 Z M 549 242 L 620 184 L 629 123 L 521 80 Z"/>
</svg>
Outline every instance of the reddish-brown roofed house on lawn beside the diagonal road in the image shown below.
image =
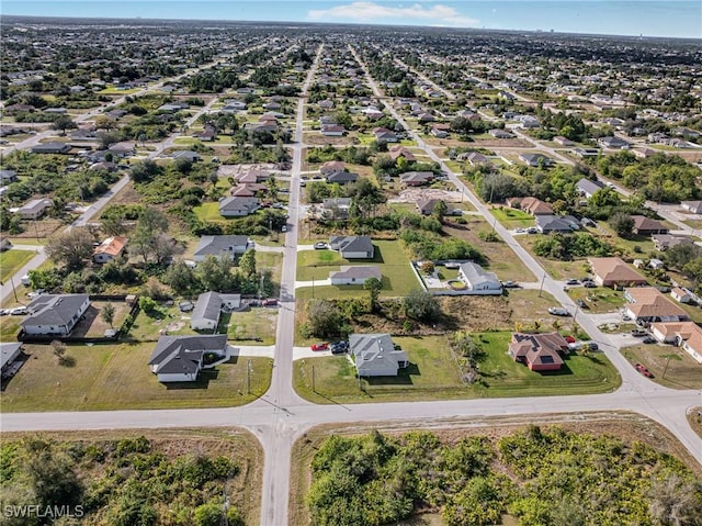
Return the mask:
<svg viewBox="0 0 702 526">
<path fill-rule="evenodd" d="M 562 352 L 568 343 L 558 333 L 513 333 L 508 350 L 514 361 L 525 363 L 532 371 L 557 371 L 563 367 Z"/>
</svg>

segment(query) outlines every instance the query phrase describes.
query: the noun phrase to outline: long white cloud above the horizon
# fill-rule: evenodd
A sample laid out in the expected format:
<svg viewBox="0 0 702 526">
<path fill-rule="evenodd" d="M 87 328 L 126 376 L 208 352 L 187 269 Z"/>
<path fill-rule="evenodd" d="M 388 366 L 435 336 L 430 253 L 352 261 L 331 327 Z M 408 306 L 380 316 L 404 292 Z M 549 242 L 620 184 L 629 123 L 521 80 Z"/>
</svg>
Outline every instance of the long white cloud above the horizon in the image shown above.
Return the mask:
<svg viewBox="0 0 702 526">
<path fill-rule="evenodd" d="M 307 13 L 307 19 L 324 22 L 414 23 L 458 27 L 479 24 L 478 20 L 463 16 L 454 8 L 441 4 L 424 8 L 420 3 L 394 8 L 374 2 L 351 2 L 330 9 L 313 9 Z"/>
</svg>

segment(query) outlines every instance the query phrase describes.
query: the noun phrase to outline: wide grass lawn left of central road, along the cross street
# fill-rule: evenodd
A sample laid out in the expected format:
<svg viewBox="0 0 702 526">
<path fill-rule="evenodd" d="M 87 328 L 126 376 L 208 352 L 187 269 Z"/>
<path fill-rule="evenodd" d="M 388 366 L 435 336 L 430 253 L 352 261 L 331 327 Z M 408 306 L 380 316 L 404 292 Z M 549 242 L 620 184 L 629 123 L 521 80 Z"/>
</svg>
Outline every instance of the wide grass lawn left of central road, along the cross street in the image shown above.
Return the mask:
<svg viewBox="0 0 702 526">
<path fill-rule="evenodd" d="M 166 385 L 147 366 L 152 343 L 69 345 L 70 367 L 58 367 L 48 345 L 25 349 L 31 355 L 27 362 L 0 395 L 5 413 L 244 405 L 268 390 L 272 370 L 272 360 L 251 358 L 247 394 L 247 358 L 201 372 L 196 382 Z"/>
</svg>

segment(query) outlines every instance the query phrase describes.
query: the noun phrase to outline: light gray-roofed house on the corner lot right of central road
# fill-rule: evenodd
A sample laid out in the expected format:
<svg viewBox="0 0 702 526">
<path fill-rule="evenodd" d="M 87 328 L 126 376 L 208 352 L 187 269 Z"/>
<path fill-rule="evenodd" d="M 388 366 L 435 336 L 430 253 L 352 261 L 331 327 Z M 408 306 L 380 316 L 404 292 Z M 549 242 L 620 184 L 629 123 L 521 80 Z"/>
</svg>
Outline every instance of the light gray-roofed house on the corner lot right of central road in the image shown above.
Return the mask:
<svg viewBox="0 0 702 526">
<path fill-rule="evenodd" d="M 407 354 L 395 347 L 389 334 L 351 334 L 349 350 L 359 377 L 396 377 L 409 365 Z"/>
</svg>

